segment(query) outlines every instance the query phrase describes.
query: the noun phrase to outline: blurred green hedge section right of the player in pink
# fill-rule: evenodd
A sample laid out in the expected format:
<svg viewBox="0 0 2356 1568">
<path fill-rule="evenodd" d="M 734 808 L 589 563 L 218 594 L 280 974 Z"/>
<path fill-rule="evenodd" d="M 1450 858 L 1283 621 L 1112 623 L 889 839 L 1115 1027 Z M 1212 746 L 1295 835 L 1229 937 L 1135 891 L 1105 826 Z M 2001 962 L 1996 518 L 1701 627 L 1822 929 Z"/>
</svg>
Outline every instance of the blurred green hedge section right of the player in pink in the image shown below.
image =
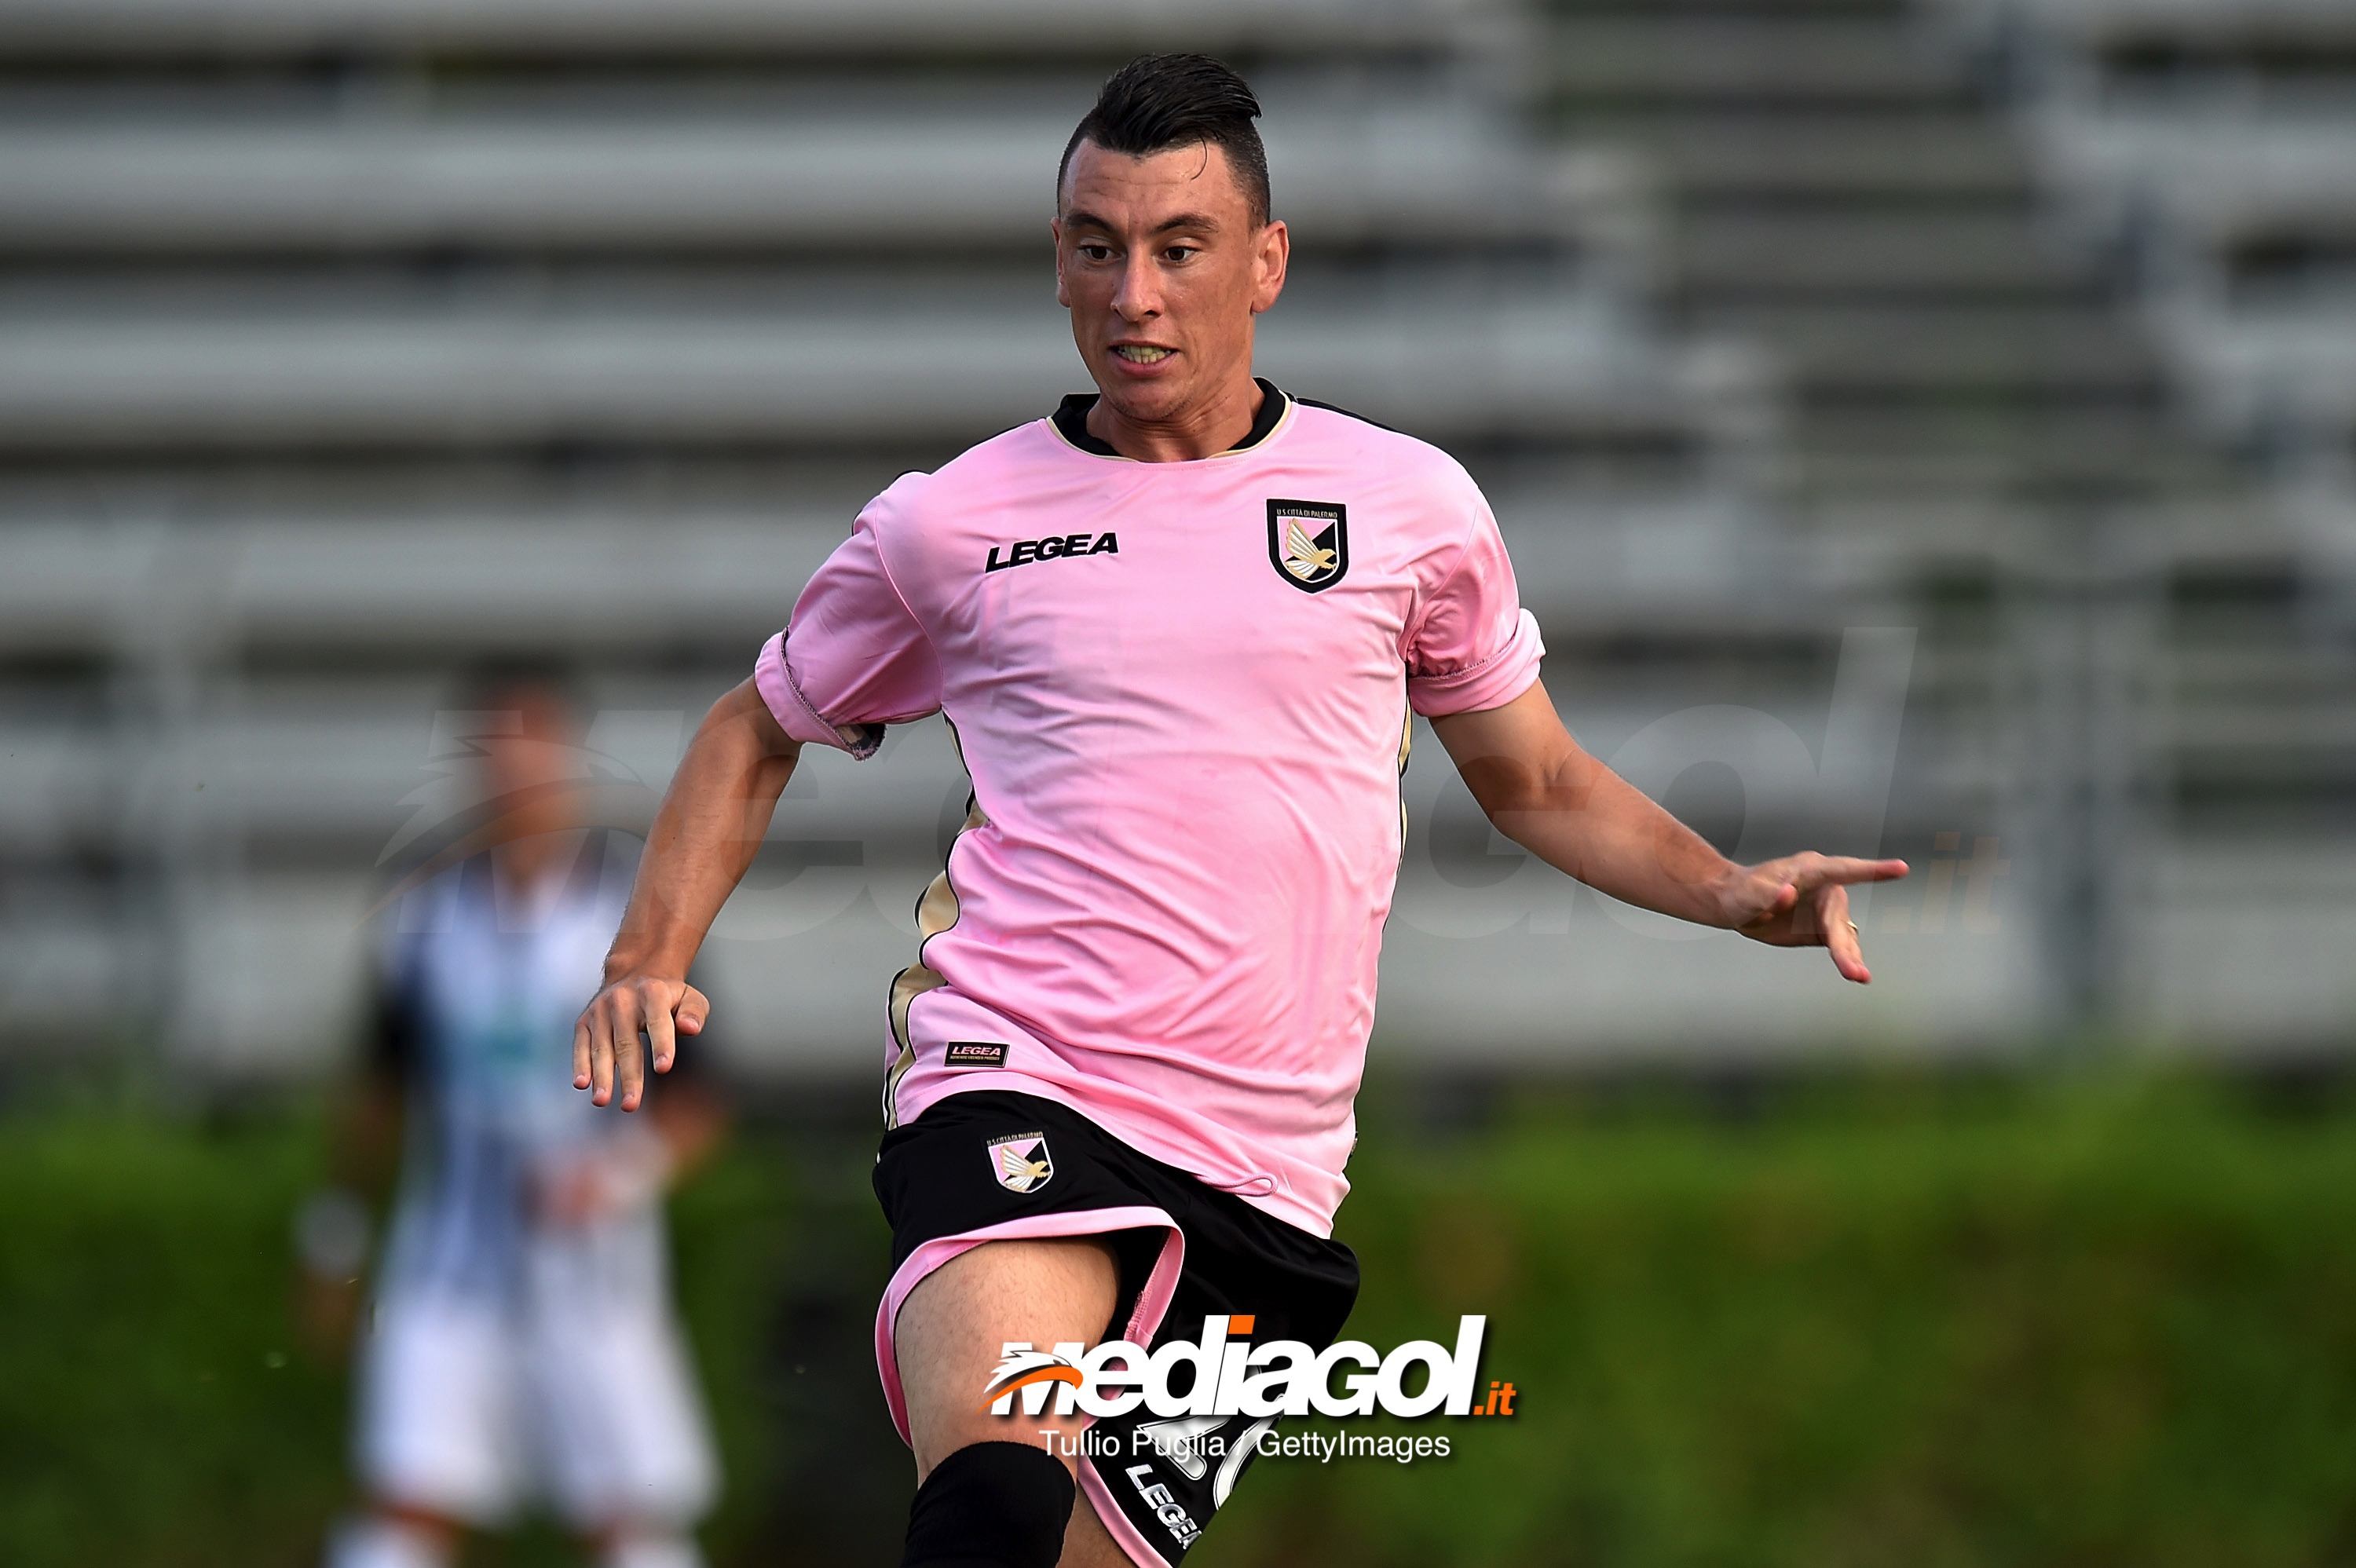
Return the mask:
<svg viewBox="0 0 2356 1568">
<path fill-rule="evenodd" d="M 1216 1561 L 2356 1559 L 2356 1123 L 1831 1099 L 1371 1147 L 1352 1333 L 1487 1309 L 1522 1415 L 1444 1464 L 1265 1464 Z"/>
</svg>

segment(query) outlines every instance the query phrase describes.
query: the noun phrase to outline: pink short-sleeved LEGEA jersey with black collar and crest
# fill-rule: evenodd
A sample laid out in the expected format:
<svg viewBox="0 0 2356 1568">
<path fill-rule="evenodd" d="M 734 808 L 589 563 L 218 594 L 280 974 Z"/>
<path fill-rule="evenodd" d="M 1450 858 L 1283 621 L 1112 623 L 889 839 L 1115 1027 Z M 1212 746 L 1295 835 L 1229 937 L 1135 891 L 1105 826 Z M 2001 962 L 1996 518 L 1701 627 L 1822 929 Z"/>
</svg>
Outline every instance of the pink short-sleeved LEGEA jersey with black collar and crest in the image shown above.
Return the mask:
<svg viewBox="0 0 2356 1568">
<path fill-rule="evenodd" d="M 942 711 L 973 777 L 886 1118 L 1041 1095 L 1324 1236 L 1409 709 L 1522 695 L 1538 629 L 1444 452 L 1268 386 L 1244 445 L 1140 464 L 1088 403 L 879 494 L 754 678 L 853 756 Z"/>
</svg>

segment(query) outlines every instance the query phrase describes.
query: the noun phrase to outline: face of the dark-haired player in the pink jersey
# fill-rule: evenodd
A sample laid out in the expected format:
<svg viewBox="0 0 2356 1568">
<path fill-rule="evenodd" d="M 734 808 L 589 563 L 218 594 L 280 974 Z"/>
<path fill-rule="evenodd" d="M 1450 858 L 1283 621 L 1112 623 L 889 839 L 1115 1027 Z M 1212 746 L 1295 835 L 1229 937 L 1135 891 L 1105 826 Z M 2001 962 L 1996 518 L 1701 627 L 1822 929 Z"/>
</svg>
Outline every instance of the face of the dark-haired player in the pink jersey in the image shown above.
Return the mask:
<svg viewBox="0 0 2356 1568">
<path fill-rule="evenodd" d="M 1251 379 L 1251 318 L 1284 290 L 1284 224 L 1253 224 L 1220 146 L 1072 151 L 1055 299 L 1105 400 L 1169 421 Z"/>
</svg>

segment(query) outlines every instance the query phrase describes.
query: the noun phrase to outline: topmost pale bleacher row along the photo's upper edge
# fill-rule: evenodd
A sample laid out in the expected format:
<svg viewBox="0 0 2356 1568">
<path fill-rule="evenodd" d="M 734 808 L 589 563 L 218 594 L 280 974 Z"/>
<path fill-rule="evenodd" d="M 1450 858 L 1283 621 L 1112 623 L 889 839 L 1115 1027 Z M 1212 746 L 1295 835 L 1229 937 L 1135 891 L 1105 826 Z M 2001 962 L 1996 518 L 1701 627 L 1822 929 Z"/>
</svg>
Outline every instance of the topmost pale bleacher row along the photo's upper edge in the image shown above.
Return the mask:
<svg viewBox="0 0 2356 1568">
<path fill-rule="evenodd" d="M 1444 49 L 1489 0 L 7 0 L 0 52 Z"/>
</svg>

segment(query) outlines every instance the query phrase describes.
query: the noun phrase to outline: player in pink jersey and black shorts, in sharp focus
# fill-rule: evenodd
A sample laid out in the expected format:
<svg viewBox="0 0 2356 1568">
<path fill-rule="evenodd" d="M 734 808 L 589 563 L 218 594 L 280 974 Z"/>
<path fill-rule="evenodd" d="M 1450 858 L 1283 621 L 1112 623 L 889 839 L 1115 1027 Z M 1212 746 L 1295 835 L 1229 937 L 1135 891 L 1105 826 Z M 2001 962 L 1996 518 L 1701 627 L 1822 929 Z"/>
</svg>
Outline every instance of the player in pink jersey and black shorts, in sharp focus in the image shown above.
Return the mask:
<svg viewBox="0 0 2356 1568">
<path fill-rule="evenodd" d="M 648 841 L 575 1085 L 624 1109 L 702 1029 L 688 984 L 803 746 L 945 713 L 973 808 L 891 984 L 876 1366 L 919 1490 L 905 1563 L 1178 1563 L 1249 1460 L 1048 1453 L 985 1382 L 1006 1342 L 1333 1340 L 1331 1241 L 1399 768 L 1432 718 L 1510 838 L 1647 909 L 1866 979 L 1845 885 L 1736 866 L 1588 758 L 1538 683 L 1496 520 L 1444 452 L 1253 379 L 1284 290 L 1251 89 L 1114 73 L 1055 186 L 1055 287 L 1098 391 L 860 513 L 704 718 Z M 940 365 L 940 374 L 990 374 Z M 1074 1443 L 1077 1446 L 1077 1443 Z M 1065 1443 L 1055 1443 L 1065 1450 Z M 1077 1493 L 1077 1502 L 1074 1502 Z M 1147 1497 L 1152 1493 L 1152 1497 Z"/>
</svg>

